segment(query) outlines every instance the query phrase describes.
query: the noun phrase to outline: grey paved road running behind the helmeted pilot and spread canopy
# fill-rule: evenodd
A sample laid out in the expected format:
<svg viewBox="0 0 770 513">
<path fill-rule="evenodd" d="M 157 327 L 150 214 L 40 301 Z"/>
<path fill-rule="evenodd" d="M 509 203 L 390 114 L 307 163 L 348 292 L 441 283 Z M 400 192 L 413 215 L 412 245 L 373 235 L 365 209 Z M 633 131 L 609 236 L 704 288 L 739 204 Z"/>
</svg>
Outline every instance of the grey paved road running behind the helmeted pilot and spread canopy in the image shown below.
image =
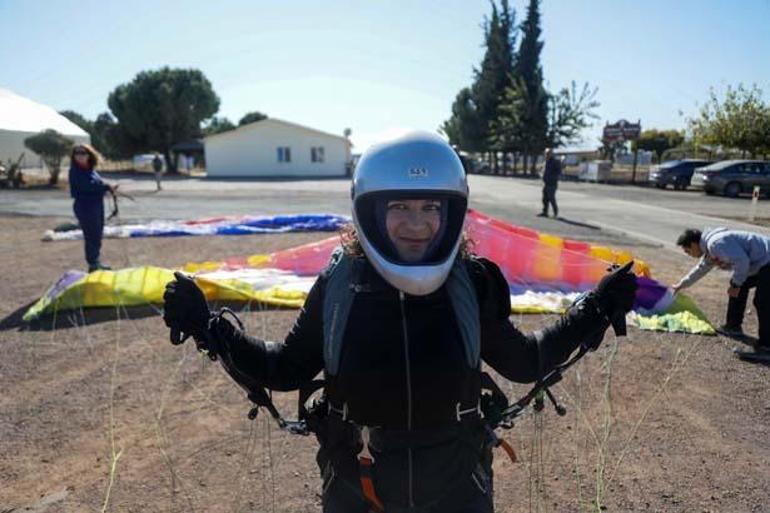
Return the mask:
<svg viewBox="0 0 770 513">
<path fill-rule="evenodd" d="M 349 214 L 348 180 L 220 181 L 165 180 L 155 193 L 151 179 L 118 177 L 136 202 L 121 202 L 121 220 L 191 219 L 218 215 L 332 212 Z M 744 199 L 707 197 L 697 192 L 660 191 L 585 183 L 562 183 L 560 220 L 535 217 L 541 208 L 536 180 L 471 176 L 471 206 L 537 230 L 604 243 L 642 243 L 676 249 L 686 227 L 729 225 L 770 234 L 770 230 L 729 218 L 746 216 Z M 70 217 L 65 191 L 0 191 L 0 214 Z M 758 217 L 770 217 L 770 201 Z"/>
</svg>

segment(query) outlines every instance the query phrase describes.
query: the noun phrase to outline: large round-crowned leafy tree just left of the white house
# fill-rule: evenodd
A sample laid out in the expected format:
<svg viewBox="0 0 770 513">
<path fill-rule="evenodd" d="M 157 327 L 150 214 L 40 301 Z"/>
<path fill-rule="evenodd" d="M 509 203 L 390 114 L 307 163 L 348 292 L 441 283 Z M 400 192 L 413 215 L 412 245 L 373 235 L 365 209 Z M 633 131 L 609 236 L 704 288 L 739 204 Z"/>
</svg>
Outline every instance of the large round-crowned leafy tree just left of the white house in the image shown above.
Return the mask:
<svg viewBox="0 0 770 513">
<path fill-rule="evenodd" d="M 219 109 L 211 82 L 199 70 L 143 71 L 110 93 L 107 104 L 140 151 L 161 151 L 176 172 L 171 146 L 200 134 L 201 122 Z"/>
</svg>

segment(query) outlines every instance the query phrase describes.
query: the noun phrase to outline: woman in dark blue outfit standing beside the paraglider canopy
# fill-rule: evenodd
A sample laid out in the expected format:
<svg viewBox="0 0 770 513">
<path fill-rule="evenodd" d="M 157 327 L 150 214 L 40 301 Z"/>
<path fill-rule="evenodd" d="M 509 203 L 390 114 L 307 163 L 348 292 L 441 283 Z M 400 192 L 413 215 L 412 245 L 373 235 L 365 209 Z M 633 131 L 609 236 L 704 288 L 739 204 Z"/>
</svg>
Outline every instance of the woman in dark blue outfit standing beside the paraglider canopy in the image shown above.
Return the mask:
<svg viewBox="0 0 770 513">
<path fill-rule="evenodd" d="M 115 192 L 117 185 L 109 185 L 96 172 L 99 154 L 88 144 L 78 144 L 70 155 L 70 196 L 75 200 L 72 209 L 83 230 L 88 272 L 109 270 L 99 261 L 104 230 L 104 194 Z"/>
</svg>

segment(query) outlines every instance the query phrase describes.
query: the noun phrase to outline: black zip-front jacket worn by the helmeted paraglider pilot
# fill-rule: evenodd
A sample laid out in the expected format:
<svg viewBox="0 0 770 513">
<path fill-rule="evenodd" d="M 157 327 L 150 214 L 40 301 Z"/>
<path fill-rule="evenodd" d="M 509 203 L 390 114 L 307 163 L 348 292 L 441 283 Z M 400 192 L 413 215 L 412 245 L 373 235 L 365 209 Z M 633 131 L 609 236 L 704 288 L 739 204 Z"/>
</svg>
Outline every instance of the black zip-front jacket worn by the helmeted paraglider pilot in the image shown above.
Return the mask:
<svg viewBox="0 0 770 513">
<path fill-rule="evenodd" d="M 482 360 L 509 380 L 535 381 L 565 361 L 599 324 L 598 319 L 563 317 L 525 335 L 509 320 L 509 288 L 497 265 L 481 258 L 467 259 L 466 265 L 480 305 Z M 375 427 L 370 449 L 380 497 L 402 506 L 430 503 L 448 487 L 470 482 L 478 465 L 483 429 L 480 423 L 460 426 L 457 408 L 477 404 L 479 369 L 470 369 L 465 360 L 444 287 L 402 300 L 368 263 L 361 272 L 368 286 L 353 301 L 339 371 L 327 376 L 327 394 L 336 407 L 347 406 L 349 420 Z M 240 372 L 270 389 L 288 391 L 323 370 L 325 283 L 322 273 L 282 343 L 253 338 L 219 321 L 215 337 Z M 360 439 L 336 435 L 322 437 L 319 464 L 323 469 L 331 463 L 336 475 L 355 483 Z"/>
</svg>

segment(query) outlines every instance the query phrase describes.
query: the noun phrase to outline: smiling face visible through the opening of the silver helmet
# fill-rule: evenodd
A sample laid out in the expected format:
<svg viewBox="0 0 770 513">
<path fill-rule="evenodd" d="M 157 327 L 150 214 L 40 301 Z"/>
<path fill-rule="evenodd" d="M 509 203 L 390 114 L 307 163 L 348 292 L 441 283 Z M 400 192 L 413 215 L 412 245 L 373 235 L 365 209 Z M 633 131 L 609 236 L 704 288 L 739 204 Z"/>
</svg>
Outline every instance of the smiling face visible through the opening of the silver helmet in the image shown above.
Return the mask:
<svg viewBox="0 0 770 513">
<path fill-rule="evenodd" d="M 441 227 L 441 202 L 428 199 L 388 201 L 385 227 L 398 256 L 405 262 L 419 262 Z"/>
</svg>

